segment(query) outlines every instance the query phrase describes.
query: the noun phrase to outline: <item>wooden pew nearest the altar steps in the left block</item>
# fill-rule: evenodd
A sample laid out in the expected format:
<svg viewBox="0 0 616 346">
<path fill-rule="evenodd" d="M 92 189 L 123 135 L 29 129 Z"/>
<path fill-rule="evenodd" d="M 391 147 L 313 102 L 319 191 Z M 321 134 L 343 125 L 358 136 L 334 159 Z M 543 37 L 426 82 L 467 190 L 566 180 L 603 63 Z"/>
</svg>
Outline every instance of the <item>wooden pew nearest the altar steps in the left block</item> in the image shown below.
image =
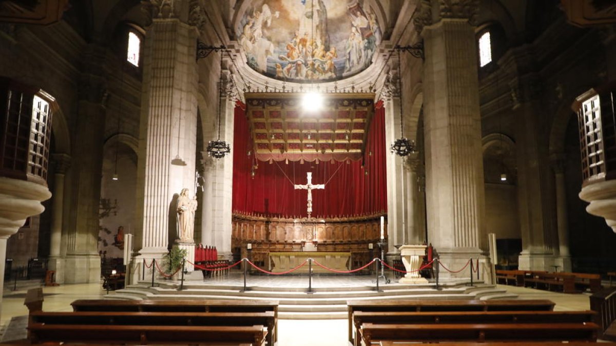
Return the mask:
<svg viewBox="0 0 616 346">
<path fill-rule="evenodd" d="M 79 299 L 75 312 L 274 312 L 267 325 L 268 345 L 277 340 L 278 301 L 275 300 L 111 300 Z"/>
</svg>

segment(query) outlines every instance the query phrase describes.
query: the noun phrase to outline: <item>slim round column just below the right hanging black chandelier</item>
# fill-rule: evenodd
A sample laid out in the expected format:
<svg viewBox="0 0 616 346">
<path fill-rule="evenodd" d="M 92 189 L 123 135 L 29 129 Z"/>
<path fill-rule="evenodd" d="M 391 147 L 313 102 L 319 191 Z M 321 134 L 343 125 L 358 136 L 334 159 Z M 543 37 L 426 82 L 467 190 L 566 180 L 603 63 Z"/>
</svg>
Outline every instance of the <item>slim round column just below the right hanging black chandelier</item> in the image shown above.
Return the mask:
<svg viewBox="0 0 616 346">
<path fill-rule="evenodd" d="M 417 168 L 419 159 L 417 154 L 407 156 L 405 159 L 405 175 L 406 175 L 406 228 L 407 235 L 405 237 L 405 245 L 418 245 L 422 243 L 424 232 L 418 224 L 418 186 L 417 186 Z"/>
</svg>

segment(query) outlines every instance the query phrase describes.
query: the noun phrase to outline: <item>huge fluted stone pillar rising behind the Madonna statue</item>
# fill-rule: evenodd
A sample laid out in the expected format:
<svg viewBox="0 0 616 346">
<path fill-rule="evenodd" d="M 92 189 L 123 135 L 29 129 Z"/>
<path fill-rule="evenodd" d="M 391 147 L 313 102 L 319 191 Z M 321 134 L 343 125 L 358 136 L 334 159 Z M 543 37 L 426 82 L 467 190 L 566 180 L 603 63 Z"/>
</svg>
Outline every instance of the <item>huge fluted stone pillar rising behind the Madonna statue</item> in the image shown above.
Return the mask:
<svg viewBox="0 0 616 346">
<path fill-rule="evenodd" d="M 178 238 L 177 195 L 195 194 L 197 38 L 189 1 L 152 1 L 144 44 L 137 167 L 139 259 L 160 259 Z M 189 8 L 190 7 L 190 8 Z M 191 15 L 189 15 L 191 14 Z M 140 262 L 140 261 L 137 261 Z"/>
</svg>

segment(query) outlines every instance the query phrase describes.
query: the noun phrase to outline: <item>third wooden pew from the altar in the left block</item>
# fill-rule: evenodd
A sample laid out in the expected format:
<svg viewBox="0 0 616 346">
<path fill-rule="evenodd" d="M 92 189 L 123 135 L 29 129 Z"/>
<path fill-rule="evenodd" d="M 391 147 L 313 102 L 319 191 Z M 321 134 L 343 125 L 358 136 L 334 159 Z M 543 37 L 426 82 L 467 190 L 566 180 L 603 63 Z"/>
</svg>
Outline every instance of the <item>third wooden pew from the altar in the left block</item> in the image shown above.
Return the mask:
<svg viewBox="0 0 616 346">
<path fill-rule="evenodd" d="M 28 327 L 33 344 L 252 344 L 261 345 L 263 326 L 105 326 L 35 323 Z"/>
</svg>

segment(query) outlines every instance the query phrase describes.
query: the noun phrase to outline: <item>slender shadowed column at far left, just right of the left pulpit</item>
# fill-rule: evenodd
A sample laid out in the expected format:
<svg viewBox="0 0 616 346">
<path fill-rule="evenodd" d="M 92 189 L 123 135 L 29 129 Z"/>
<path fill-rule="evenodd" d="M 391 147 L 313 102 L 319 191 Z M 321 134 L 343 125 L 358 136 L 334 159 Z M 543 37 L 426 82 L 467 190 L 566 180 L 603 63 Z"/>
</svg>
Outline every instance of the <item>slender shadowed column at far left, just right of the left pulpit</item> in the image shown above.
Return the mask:
<svg viewBox="0 0 616 346">
<path fill-rule="evenodd" d="M 51 217 L 51 239 L 49 244 L 50 270 L 55 270 L 55 282 L 64 283 L 64 260 L 61 257 L 62 222 L 64 214 L 64 176 L 70 166 L 70 156 L 67 154 L 54 154 L 55 163 L 54 195 Z"/>
</svg>

